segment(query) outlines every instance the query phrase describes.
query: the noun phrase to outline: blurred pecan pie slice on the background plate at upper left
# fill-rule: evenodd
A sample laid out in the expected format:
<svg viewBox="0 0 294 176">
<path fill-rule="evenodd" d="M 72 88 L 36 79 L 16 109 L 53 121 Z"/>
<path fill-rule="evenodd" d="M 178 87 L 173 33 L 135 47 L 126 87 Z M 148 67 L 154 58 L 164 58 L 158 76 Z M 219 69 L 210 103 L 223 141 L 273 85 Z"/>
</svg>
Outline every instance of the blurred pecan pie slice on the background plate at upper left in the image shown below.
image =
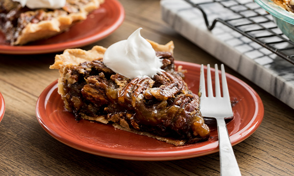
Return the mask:
<svg viewBox="0 0 294 176">
<path fill-rule="evenodd" d="M 104 0 L 66 0 L 61 9 L 29 9 L 19 2 L 0 0 L 0 30 L 7 43 L 22 45 L 64 32 L 85 20 Z"/>
</svg>

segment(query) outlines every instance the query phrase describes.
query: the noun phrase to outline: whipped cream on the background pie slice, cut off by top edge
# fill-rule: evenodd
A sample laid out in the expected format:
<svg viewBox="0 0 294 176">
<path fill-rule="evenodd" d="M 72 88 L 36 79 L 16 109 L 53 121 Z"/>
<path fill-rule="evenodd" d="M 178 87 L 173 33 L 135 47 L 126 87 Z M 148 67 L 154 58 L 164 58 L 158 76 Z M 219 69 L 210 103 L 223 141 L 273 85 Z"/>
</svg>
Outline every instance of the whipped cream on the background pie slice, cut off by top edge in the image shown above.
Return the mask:
<svg viewBox="0 0 294 176">
<path fill-rule="evenodd" d="M 21 5 L 27 6 L 30 9 L 36 8 L 49 8 L 49 9 L 57 9 L 65 6 L 66 0 L 13 0 L 16 2 L 20 2 Z"/>
</svg>

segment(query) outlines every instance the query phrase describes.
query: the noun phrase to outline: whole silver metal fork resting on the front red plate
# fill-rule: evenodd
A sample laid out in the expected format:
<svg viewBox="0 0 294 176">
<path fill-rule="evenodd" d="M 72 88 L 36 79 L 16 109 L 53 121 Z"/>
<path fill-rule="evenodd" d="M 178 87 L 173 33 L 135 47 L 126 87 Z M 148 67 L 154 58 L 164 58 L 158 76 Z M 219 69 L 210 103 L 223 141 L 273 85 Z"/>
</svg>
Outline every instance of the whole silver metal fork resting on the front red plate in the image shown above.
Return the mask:
<svg viewBox="0 0 294 176">
<path fill-rule="evenodd" d="M 200 98 L 200 112 L 203 117 L 215 118 L 218 124 L 219 133 L 219 148 L 220 148 L 220 162 L 221 162 L 221 176 L 241 176 L 241 172 L 233 152 L 233 148 L 230 142 L 228 130 L 226 128 L 225 118 L 232 118 L 233 111 L 230 103 L 229 90 L 226 82 L 224 66 L 221 65 L 221 83 L 222 94 L 220 88 L 219 69 L 218 65 L 215 65 L 215 93 L 213 95 L 210 65 L 207 65 L 207 91 L 205 90 L 205 79 L 203 65 L 200 69 L 200 86 L 199 86 L 199 98 Z"/>
</svg>

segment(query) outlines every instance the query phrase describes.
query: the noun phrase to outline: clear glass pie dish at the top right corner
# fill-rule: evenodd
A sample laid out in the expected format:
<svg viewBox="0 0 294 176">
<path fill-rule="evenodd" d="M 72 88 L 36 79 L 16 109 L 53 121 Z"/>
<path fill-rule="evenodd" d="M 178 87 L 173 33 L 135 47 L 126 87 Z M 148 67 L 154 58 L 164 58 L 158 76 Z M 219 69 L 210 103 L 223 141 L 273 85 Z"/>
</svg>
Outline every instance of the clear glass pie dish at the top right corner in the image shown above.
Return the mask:
<svg viewBox="0 0 294 176">
<path fill-rule="evenodd" d="M 272 0 L 254 1 L 272 15 L 283 34 L 294 42 L 294 13 L 287 11 Z"/>
</svg>

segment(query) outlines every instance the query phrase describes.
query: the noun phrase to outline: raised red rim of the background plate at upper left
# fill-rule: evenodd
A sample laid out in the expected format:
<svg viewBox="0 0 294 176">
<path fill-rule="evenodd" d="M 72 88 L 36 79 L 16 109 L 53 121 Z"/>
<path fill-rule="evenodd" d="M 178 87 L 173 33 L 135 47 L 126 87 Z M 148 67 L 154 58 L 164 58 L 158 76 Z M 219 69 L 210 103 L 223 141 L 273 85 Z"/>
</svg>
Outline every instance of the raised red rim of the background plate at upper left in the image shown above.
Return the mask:
<svg viewBox="0 0 294 176">
<path fill-rule="evenodd" d="M 123 5 L 118 0 L 105 0 L 104 5 L 114 5 L 116 10 L 118 11 L 118 15 L 116 16 L 116 21 L 111 24 L 107 29 L 102 30 L 96 35 L 91 35 L 83 39 L 77 39 L 74 41 L 58 43 L 58 44 L 45 44 L 45 45 L 24 45 L 24 46 L 10 46 L 10 45 L 0 45 L 0 53 L 1 54 L 44 54 L 44 53 L 52 53 L 63 51 L 67 48 L 77 48 L 81 46 L 85 46 L 87 44 L 91 44 L 101 40 L 112 32 L 114 32 L 122 23 L 125 17 Z M 89 14 L 91 15 L 91 13 Z M 59 34 L 62 35 L 62 34 Z"/>
</svg>

